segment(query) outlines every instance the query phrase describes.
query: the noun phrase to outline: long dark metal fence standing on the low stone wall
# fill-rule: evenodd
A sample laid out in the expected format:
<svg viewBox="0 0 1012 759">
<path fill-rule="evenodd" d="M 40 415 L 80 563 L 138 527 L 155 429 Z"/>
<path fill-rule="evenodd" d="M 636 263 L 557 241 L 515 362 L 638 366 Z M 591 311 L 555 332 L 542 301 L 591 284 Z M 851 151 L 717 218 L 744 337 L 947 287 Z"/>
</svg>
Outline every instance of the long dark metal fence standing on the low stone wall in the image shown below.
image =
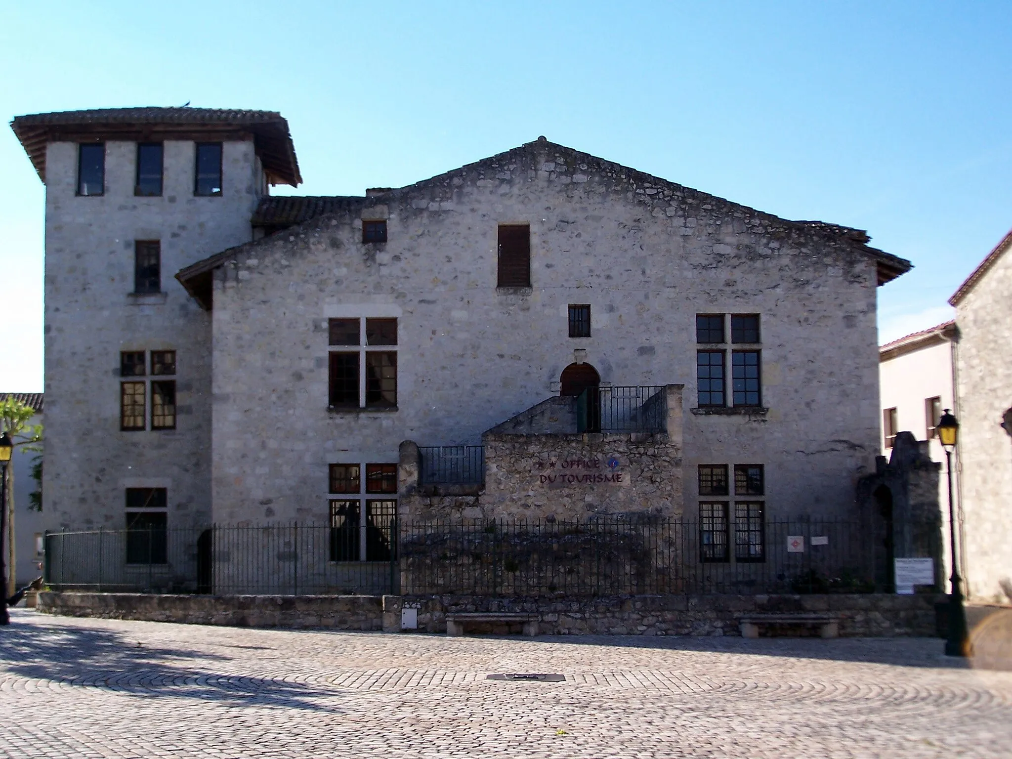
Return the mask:
<svg viewBox="0 0 1012 759">
<path fill-rule="evenodd" d="M 214 525 L 47 533 L 58 590 L 599 596 L 892 591 L 858 522 L 679 519 Z M 716 534 L 716 537 L 714 535 Z M 356 542 L 356 545 L 359 544 Z M 362 561 L 345 561 L 348 557 Z"/>
</svg>

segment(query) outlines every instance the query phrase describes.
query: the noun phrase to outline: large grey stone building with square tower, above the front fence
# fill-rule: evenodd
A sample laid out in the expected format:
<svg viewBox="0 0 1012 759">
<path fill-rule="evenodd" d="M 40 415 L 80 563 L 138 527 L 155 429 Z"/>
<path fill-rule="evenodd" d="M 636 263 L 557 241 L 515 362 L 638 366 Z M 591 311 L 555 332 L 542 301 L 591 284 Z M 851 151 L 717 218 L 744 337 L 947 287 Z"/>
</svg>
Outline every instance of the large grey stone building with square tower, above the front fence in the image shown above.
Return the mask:
<svg viewBox="0 0 1012 759">
<path fill-rule="evenodd" d="M 874 471 L 876 287 L 910 264 L 864 232 L 544 138 L 273 197 L 301 181 L 277 113 L 12 125 L 47 184 L 64 524 L 663 513 L 733 560 L 756 520 L 853 517 Z"/>
</svg>

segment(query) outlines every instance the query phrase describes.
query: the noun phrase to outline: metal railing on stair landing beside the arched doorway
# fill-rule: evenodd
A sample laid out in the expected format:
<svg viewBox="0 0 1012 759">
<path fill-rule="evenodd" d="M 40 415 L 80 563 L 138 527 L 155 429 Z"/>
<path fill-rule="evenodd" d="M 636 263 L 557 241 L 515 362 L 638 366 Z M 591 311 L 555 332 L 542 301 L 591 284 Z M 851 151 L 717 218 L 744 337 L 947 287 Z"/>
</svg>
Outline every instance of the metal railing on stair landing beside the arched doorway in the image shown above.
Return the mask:
<svg viewBox="0 0 1012 759">
<path fill-rule="evenodd" d="M 577 432 L 664 432 L 664 386 L 588 388 L 577 398 Z"/>
</svg>

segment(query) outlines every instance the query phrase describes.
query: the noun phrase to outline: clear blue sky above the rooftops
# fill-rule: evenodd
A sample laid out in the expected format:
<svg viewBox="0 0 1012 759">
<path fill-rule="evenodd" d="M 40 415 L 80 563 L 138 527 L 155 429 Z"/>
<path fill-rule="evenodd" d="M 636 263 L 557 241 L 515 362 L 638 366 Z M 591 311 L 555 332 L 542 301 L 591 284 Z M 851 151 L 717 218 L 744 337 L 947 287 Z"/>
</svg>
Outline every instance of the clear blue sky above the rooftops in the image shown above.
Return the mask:
<svg viewBox="0 0 1012 759">
<path fill-rule="evenodd" d="M 399 186 L 544 135 L 916 268 L 882 341 L 1012 227 L 1009 2 L 48 2 L 0 9 L 0 115 L 279 110 L 306 183 Z M 43 389 L 44 188 L 0 130 L 0 391 Z"/>
</svg>

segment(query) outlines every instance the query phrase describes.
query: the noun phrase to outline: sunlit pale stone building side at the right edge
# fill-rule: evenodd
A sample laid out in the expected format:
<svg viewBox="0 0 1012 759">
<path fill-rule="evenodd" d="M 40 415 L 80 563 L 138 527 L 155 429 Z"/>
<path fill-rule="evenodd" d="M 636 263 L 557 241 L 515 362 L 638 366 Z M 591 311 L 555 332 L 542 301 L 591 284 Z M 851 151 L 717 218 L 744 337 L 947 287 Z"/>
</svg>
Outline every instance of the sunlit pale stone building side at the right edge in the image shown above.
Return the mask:
<svg viewBox="0 0 1012 759">
<path fill-rule="evenodd" d="M 959 490 L 968 595 L 1012 600 L 1012 233 L 949 303 L 959 328 Z"/>
</svg>

